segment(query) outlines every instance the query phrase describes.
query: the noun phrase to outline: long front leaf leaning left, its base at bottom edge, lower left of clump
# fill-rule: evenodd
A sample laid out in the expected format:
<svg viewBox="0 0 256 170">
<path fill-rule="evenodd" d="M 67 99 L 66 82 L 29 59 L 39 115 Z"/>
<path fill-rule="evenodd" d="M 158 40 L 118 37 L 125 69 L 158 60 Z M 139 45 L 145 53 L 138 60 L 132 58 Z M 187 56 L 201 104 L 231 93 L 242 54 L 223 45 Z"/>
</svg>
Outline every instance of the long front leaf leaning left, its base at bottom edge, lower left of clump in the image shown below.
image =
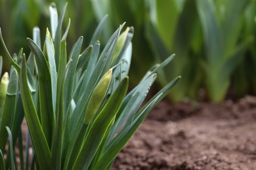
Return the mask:
<svg viewBox="0 0 256 170">
<path fill-rule="evenodd" d="M 22 69 L 19 77 L 20 80 L 20 93 L 22 96 L 22 103 L 28 122 L 28 128 L 33 141 L 33 146 L 37 154 L 37 160 L 41 169 L 51 169 L 51 152 L 43 133 L 43 129 L 37 117 L 35 105 L 33 104 L 30 88 L 28 87 L 26 58 L 22 58 Z"/>
</svg>

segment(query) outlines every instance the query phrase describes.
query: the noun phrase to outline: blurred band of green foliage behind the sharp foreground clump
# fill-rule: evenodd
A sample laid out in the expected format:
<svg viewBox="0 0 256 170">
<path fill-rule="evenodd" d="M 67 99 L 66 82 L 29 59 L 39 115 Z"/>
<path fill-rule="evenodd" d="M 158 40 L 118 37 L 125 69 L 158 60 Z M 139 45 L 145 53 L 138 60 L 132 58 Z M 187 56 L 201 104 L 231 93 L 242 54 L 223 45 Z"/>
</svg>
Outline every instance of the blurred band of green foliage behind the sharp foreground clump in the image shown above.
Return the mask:
<svg viewBox="0 0 256 170">
<path fill-rule="evenodd" d="M 36 25 L 49 27 L 51 2 L 0 1 L 0 27 L 10 52 L 21 47 L 29 52 L 26 37 L 32 37 Z M 58 9 L 65 2 L 54 1 Z M 109 17 L 102 44 L 119 24 L 135 27 L 129 74 L 132 84 L 150 65 L 175 53 L 175 59 L 158 76 L 160 86 L 182 76 L 169 95 L 171 101 L 203 96 L 218 102 L 256 94 L 255 0 L 73 0 L 68 1 L 67 10 L 72 18 L 70 44 L 83 35 L 87 46 L 105 14 Z M 68 24 L 68 18 L 65 21 Z M 4 54 L 2 46 L 0 50 Z"/>
</svg>

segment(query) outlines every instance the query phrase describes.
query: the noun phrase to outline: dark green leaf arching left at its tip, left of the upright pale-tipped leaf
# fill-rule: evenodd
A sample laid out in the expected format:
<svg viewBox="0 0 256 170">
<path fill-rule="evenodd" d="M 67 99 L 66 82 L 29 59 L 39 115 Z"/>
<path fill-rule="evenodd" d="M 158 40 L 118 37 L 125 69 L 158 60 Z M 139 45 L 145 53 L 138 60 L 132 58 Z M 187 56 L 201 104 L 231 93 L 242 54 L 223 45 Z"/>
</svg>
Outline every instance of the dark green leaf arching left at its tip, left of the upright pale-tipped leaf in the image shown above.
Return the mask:
<svg viewBox="0 0 256 170">
<path fill-rule="evenodd" d="M 38 68 L 39 76 L 39 102 L 41 112 L 41 124 L 45 137 L 51 147 L 53 130 L 55 128 L 55 116 L 53 109 L 53 89 L 51 83 L 51 73 L 47 59 L 40 48 L 31 39 L 28 39 L 28 45 L 35 54 L 35 61 Z"/>
</svg>

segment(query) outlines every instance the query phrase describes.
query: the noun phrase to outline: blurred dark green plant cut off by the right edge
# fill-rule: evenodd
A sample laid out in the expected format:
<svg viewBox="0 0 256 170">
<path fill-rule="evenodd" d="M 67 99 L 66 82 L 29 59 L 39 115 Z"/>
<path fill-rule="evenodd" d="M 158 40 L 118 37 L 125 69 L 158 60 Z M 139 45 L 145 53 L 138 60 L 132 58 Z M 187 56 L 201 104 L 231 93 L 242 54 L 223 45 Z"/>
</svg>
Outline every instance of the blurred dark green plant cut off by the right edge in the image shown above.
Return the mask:
<svg viewBox="0 0 256 170">
<path fill-rule="evenodd" d="M 242 36 L 253 39 L 247 44 L 242 56 L 232 75 L 232 92 L 235 97 L 243 97 L 244 94 L 256 94 L 256 1 L 251 1 L 244 13 Z"/>
</svg>

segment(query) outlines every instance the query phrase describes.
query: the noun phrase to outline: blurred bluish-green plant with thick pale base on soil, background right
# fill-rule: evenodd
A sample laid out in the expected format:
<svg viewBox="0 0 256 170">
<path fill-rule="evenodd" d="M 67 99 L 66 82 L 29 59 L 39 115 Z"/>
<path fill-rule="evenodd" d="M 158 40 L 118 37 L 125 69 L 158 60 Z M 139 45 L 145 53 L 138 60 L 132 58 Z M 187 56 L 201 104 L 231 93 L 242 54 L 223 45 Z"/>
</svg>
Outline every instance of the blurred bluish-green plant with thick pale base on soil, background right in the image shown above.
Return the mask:
<svg viewBox="0 0 256 170">
<path fill-rule="evenodd" d="M 197 0 L 205 44 L 205 88 L 209 99 L 222 101 L 230 87 L 230 76 L 242 60 L 242 51 L 248 39 L 238 43 L 242 25 L 242 14 L 249 0 L 226 0 L 214 3 L 212 0 Z M 219 6 L 219 7 L 218 7 Z M 219 11 L 217 11 L 219 10 Z"/>
</svg>

